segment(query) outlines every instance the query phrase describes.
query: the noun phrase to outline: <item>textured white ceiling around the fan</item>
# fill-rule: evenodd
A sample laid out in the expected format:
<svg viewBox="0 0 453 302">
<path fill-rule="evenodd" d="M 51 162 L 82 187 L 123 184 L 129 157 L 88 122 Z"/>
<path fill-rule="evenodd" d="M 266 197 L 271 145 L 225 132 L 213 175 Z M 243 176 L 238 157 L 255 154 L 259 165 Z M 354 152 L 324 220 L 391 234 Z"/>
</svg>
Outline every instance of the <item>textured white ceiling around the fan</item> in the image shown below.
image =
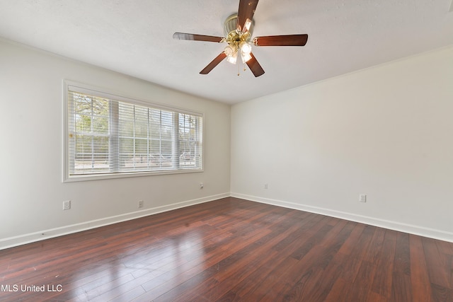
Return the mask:
<svg viewBox="0 0 453 302">
<path fill-rule="evenodd" d="M 265 74 L 237 76 L 226 60 L 199 74 L 224 44 L 239 0 L 0 0 L 0 37 L 162 86 L 238 103 L 453 45 L 452 0 L 260 0 L 254 36 L 306 33 L 305 47 L 254 47 Z M 241 66 L 242 67 L 242 66 Z"/>
</svg>

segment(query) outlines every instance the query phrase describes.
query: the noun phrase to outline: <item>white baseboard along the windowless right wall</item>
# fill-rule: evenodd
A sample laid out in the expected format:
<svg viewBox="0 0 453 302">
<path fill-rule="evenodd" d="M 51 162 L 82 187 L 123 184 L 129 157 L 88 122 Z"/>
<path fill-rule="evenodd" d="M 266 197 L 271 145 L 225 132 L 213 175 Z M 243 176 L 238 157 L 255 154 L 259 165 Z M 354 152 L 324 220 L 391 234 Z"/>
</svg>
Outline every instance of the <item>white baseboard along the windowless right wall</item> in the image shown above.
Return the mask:
<svg viewBox="0 0 453 302">
<path fill-rule="evenodd" d="M 336 217 L 339 219 L 346 219 L 349 221 L 355 221 L 360 223 L 369 224 L 370 226 L 379 226 L 380 228 L 388 228 L 394 231 L 400 231 L 404 233 L 410 233 L 418 236 L 444 240 L 453 243 L 453 233 L 446 231 L 435 230 L 432 228 L 425 228 L 423 226 L 414 226 L 407 223 L 401 223 L 397 221 L 389 221 L 385 219 L 377 219 L 369 216 L 362 216 L 357 214 L 351 214 L 343 211 L 336 211 L 331 209 L 324 209 L 319 207 L 312 207 L 305 204 L 294 204 L 292 202 L 284 202 L 282 200 L 268 199 L 264 197 L 257 197 L 247 194 L 239 194 L 231 192 L 231 197 L 251 200 L 253 202 L 260 202 L 263 204 L 272 204 L 278 207 L 285 207 L 288 209 L 297 209 L 300 211 L 308 211 L 311 213 Z"/>
</svg>

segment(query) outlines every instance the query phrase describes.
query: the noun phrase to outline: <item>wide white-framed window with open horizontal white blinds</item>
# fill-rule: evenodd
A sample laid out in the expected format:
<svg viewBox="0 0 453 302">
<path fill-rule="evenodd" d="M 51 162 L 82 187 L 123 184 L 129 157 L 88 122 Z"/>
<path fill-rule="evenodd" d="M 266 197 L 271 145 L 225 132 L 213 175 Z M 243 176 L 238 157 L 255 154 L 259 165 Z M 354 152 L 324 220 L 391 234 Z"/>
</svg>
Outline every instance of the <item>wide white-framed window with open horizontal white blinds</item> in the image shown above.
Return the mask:
<svg viewBox="0 0 453 302">
<path fill-rule="evenodd" d="M 65 86 L 65 180 L 202 170 L 202 114 Z"/>
</svg>

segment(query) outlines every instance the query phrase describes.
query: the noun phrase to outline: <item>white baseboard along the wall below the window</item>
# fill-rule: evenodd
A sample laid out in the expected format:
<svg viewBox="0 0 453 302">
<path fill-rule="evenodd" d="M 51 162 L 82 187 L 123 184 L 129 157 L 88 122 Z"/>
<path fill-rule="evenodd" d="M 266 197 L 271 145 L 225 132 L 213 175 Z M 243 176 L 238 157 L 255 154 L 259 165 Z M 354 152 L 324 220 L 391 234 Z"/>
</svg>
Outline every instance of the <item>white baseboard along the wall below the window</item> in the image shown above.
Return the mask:
<svg viewBox="0 0 453 302">
<path fill-rule="evenodd" d="M 132 219 L 137 219 L 144 216 L 159 214 L 164 211 L 171 211 L 173 209 L 180 209 L 183 207 L 193 206 L 194 204 L 201 204 L 203 202 L 211 202 L 212 200 L 221 199 L 224 197 L 229 197 L 229 193 L 216 194 L 208 197 L 202 197 L 199 199 L 187 200 L 185 202 L 177 202 L 175 204 L 168 204 L 166 206 L 154 207 L 151 209 L 144 209 L 142 211 L 134 211 L 126 214 L 120 214 L 117 216 L 105 217 L 102 219 L 96 219 L 92 221 L 86 221 L 82 223 L 71 224 L 69 226 L 62 226 L 59 228 L 51 228 L 48 230 L 43 230 L 35 233 L 28 233 L 20 236 L 13 236 L 4 239 L 0 239 L 0 250 L 6 248 L 13 248 L 18 245 L 24 245 L 26 243 L 33 243 L 35 241 L 45 240 L 49 238 L 54 238 L 58 236 L 64 236 L 71 233 L 77 233 L 81 231 L 86 231 L 91 228 L 99 228 L 101 226 L 108 226 L 109 224 L 118 223 L 122 221 L 128 221 Z"/>
</svg>

